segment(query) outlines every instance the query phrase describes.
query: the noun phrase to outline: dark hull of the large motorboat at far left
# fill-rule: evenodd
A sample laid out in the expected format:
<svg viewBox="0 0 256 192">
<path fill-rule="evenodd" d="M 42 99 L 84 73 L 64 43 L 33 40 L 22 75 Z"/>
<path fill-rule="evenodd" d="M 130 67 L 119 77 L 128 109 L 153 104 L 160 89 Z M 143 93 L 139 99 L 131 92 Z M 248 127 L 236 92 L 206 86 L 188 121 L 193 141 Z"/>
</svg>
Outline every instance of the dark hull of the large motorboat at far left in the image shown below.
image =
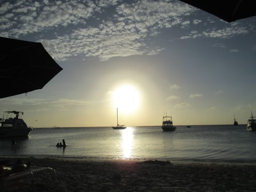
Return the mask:
<svg viewBox="0 0 256 192">
<path fill-rule="evenodd" d="M 4 128 L 0 128 L 0 138 L 28 137 L 28 135 L 31 131 L 32 131 L 31 128 L 26 128 L 26 129 L 4 129 Z"/>
</svg>

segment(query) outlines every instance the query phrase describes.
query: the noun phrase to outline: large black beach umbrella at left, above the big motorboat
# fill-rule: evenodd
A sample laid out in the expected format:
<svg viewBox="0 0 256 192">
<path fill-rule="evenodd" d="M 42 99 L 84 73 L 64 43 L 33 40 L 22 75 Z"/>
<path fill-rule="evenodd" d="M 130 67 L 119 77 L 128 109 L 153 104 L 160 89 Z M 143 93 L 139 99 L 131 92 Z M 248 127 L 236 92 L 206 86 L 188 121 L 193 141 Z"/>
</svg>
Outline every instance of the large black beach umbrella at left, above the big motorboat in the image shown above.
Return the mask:
<svg viewBox="0 0 256 192">
<path fill-rule="evenodd" d="M 42 89 L 62 68 L 41 43 L 0 37 L 0 98 Z"/>
</svg>

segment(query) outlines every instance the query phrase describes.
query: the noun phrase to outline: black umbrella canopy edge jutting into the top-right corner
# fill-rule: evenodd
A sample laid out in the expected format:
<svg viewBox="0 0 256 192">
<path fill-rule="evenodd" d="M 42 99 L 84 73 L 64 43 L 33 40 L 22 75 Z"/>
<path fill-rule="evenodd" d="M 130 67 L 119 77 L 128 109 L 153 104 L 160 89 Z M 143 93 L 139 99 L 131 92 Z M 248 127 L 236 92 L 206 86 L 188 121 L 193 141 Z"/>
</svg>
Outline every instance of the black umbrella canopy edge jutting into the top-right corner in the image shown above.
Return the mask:
<svg viewBox="0 0 256 192">
<path fill-rule="evenodd" d="M 227 22 L 249 18 L 256 15 L 253 0 L 180 0 L 209 12 Z"/>
</svg>

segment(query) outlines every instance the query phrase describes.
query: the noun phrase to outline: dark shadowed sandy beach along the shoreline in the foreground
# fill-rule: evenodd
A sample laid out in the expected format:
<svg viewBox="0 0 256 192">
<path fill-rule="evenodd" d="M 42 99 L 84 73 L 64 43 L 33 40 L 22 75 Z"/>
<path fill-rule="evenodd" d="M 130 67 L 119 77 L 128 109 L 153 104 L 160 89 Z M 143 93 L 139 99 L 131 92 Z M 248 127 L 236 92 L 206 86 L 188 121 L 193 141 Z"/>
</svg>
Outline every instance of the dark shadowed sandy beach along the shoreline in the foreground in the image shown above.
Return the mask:
<svg viewBox="0 0 256 192">
<path fill-rule="evenodd" d="M 21 158 L 52 167 L 7 183 L 4 191 L 256 191 L 255 164 Z M 17 158 L 2 157 L 0 161 Z M 34 186 L 34 188 L 33 188 Z"/>
</svg>

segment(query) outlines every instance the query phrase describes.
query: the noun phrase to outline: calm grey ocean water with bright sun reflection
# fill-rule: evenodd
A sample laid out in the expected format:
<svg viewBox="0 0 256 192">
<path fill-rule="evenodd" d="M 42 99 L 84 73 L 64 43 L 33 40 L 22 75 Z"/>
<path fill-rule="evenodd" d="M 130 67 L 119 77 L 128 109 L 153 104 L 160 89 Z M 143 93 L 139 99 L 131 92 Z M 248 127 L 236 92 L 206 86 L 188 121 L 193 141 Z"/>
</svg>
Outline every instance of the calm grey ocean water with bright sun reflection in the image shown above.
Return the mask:
<svg viewBox="0 0 256 192">
<path fill-rule="evenodd" d="M 58 142 L 66 141 L 66 148 Z M 108 159 L 161 159 L 256 163 L 256 132 L 246 125 L 69 127 L 34 129 L 27 139 L 0 140 L 0 156 L 60 156 Z"/>
</svg>

